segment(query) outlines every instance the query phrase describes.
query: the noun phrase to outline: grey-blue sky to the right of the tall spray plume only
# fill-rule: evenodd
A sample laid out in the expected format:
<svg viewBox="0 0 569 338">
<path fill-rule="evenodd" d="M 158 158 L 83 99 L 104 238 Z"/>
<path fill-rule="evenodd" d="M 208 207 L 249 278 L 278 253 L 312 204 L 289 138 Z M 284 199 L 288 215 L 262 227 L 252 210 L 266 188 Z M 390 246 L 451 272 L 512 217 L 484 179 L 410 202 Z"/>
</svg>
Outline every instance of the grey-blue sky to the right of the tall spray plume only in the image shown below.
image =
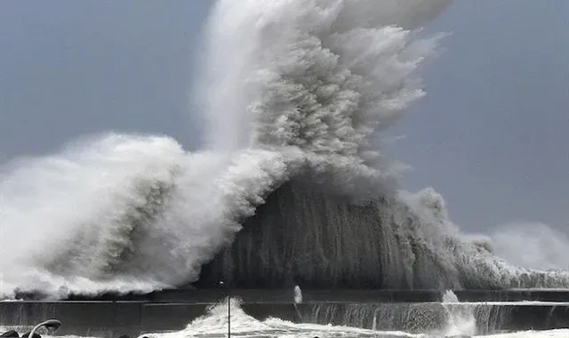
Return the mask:
<svg viewBox="0 0 569 338">
<path fill-rule="evenodd" d="M 569 1 L 455 1 L 440 30 L 453 35 L 392 150 L 407 186 L 432 185 L 463 229 L 569 232 Z"/>
</svg>

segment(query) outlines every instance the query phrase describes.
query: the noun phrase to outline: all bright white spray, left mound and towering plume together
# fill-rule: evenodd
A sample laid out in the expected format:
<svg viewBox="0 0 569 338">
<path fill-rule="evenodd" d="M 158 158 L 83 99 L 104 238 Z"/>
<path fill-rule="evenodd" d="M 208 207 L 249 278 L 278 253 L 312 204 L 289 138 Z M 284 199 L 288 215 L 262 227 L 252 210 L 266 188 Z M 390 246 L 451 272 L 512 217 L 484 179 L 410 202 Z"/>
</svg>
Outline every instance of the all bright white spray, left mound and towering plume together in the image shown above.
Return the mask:
<svg viewBox="0 0 569 338">
<path fill-rule="evenodd" d="M 448 4 L 220 0 L 197 77 L 207 149 L 110 134 L 5 166 L 3 293 L 194 281 L 263 198 L 307 168 L 343 193 L 377 195 L 394 173 L 374 134 L 424 95 L 413 73 L 437 48 L 409 29 Z M 430 208 L 424 237 L 443 243 L 442 198 L 427 191 L 416 204 Z"/>
</svg>

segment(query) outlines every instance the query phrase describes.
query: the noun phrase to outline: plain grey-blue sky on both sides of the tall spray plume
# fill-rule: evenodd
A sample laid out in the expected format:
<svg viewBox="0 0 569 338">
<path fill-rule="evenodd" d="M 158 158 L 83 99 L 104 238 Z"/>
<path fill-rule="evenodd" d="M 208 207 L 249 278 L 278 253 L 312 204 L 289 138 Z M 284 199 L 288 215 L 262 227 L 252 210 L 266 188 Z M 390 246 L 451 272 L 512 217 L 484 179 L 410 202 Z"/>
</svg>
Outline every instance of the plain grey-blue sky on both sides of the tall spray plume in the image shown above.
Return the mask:
<svg viewBox="0 0 569 338">
<path fill-rule="evenodd" d="M 209 0 L 0 2 L 0 154 L 42 155 L 108 130 L 195 149 L 192 57 Z M 428 96 L 390 134 L 471 231 L 509 221 L 569 229 L 569 1 L 456 1 Z"/>
</svg>

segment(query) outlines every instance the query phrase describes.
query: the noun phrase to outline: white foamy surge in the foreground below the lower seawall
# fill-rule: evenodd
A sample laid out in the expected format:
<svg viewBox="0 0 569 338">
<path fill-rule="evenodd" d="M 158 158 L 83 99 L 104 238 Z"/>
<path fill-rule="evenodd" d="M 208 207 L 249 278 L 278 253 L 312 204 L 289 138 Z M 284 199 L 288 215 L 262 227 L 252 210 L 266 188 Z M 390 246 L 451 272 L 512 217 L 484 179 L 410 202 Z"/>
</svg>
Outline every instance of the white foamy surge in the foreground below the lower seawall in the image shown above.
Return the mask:
<svg viewBox="0 0 569 338">
<path fill-rule="evenodd" d="M 480 304 L 480 303 L 478 303 Z M 519 331 L 512 333 L 493 333 L 488 334 L 477 334 L 472 327 L 454 327 L 448 330 L 445 327 L 435 327 L 437 326 L 433 321 L 437 318 L 437 310 L 427 311 L 427 306 L 431 308 L 434 306 L 437 308 L 437 303 L 424 304 L 426 305 L 422 309 L 406 309 L 409 313 L 405 315 L 404 312 L 398 312 L 397 315 L 389 313 L 387 309 L 381 309 L 378 307 L 370 308 L 373 309 L 372 313 L 377 316 L 378 323 L 382 326 L 389 326 L 389 324 L 396 324 L 397 318 L 405 318 L 406 322 L 404 326 L 411 328 L 413 330 L 413 322 L 422 326 L 421 332 L 407 332 L 406 329 L 379 329 L 370 328 L 369 326 L 364 326 L 365 315 L 369 315 L 368 309 L 357 307 L 357 304 L 351 304 L 354 309 L 347 310 L 345 312 L 343 324 L 326 322 L 326 316 L 321 316 L 316 324 L 316 322 L 310 323 L 293 323 L 279 318 L 267 318 L 264 320 L 258 320 L 247 315 L 244 310 L 241 309 L 238 300 L 232 299 L 230 304 L 231 312 L 231 335 L 241 336 L 241 337 L 321 337 L 321 338 L 332 338 L 332 337 L 385 337 L 385 338 L 428 338 L 428 337 L 451 337 L 451 336 L 472 336 L 472 337 L 504 337 L 504 338 L 514 338 L 514 337 L 565 337 L 568 333 L 567 329 L 557 329 L 557 330 L 545 330 L 545 331 Z M 360 304 L 364 306 L 363 304 Z M 380 304 L 375 304 L 380 305 Z M 386 304 L 383 304 L 386 305 Z M 405 306 L 405 304 L 399 304 Z M 413 304 L 406 304 L 410 307 Z M 415 304 L 417 305 L 417 304 Z M 350 305 L 347 305 L 350 306 Z M 394 309 L 391 309 L 393 311 Z M 398 309 L 402 310 L 402 309 Z M 332 310 L 329 313 L 333 317 L 338 317 L 340 311 Z M 374 316 L 374 318 L 375 318 Z M 316 319 L 316 318 L 311 318 Z M 456 323 L 453 318 L 446 318 L 448 320 L 449 326 L 453 326 Z M 469 323 L 466 323 L 467 326 Z M 433 329 L 425 329 L 425 327 L 434 326 Z M 368 327 L 368 328 L 364 328 Z M 184 337 L 220 337 L 228 333 L 228 303 L 223 302 L 212 306 L 207 313 L 201 317 L 196 318 L 191 323 L 188 324 L 183 330 L 169 333 L 147 333 L 142 334 L 140 337 L 148 338 L 184 338 Z"/>
</svg>

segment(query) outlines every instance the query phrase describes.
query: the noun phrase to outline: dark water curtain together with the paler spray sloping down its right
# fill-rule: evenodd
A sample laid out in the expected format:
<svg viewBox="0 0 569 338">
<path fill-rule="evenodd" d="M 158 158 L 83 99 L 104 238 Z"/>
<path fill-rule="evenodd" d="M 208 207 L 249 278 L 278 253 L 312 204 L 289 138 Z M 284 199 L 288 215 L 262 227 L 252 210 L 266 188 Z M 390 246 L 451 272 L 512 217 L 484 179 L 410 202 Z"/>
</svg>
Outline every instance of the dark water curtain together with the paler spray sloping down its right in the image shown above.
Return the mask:
<svg viewBox="0 0 569 338">
<path fill-rule="evenodd" d="M 569 287 L 461 237 L 432 189 L 364 205 L 295 179 L 268 197 L 196 286 L 502 289 Z M 405 201 L 405 202 L 404 202 Z"/>
</svg>

